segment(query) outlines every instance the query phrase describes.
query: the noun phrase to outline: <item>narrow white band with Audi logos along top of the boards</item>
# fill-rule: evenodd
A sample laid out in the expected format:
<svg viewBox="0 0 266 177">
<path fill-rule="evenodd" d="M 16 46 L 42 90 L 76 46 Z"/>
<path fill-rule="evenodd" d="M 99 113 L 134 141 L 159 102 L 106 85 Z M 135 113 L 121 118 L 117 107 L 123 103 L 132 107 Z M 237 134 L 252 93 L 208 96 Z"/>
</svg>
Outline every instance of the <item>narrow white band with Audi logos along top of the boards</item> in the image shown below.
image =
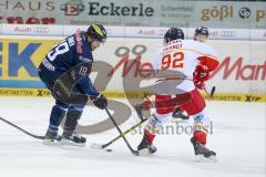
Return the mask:
<svg viewBox="0 0 266 177">
<path fill-rule="evenodd" d="M 41 35 L 66 37 L 78 29 L 86 30 L 88 25 L 29 25 L 29 24 L 0 24 L 2 35 Z M 109 38 L 141 38 L 162 39 L 168 28 L 155 27 L 104 27 Z M 2 29 L 2 30 L 1 30 Z M 194 28 L 182 28 L 186 39 L 193 39 Z M 266 29 L 213 29 L 209 28 L 212 40 L 257 40 L 266 41 Z"/>
</svg>

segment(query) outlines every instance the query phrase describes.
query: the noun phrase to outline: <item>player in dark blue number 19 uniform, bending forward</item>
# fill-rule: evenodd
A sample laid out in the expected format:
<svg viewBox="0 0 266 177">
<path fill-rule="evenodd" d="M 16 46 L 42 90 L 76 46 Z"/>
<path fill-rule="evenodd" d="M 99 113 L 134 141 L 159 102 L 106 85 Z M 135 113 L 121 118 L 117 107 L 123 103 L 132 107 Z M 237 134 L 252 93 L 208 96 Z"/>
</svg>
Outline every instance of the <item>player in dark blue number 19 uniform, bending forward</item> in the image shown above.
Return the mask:
<svg viewBox="0 0 266 177">
<path fill-rule="evenodd" d="M 43 144 L 53 144 L 59 140 L 60 144 L 85 146 L 85 137 L 78 135 L 74 129 L 86 104 L 86 97 L 101 110 L 108 105 L 105 96 L 94 88 L 89 77 L 93 63 L 92 51 L 105 40 L 106 31 L 101 24 L 92 24 L 86 31 L 78 30 L 51 49 L 38 67 L 41 81 L 55 98 Z M 60 87 L 59 91 L 58 87 Z M 71 92 L 88 96 L 82 98 L 78 96 L 78 102 L 74 101 L 72 104 L 71 96 L 66 92 L 70 87 Z M 66 119 L 63 134 L 59 136 L 59 126 L 64 115 Z"/>
</svg>

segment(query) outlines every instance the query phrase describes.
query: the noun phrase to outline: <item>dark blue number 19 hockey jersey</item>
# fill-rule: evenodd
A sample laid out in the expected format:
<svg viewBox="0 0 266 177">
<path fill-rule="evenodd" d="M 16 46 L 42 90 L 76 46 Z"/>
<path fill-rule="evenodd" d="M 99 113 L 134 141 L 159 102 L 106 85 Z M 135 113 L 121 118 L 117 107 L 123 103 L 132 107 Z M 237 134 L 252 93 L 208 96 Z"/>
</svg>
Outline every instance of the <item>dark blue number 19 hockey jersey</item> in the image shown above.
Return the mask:
<svg viewBox="0 0 266 177">
<path fill-rule="evenodd" d="M 48 83 L 53 83 L 72 67 L 82 64 L 91 66 L 92 63 L 92 51 L 85 33 L 78 30 L 73 35 L 65 38 L 49 51 L 41 62 L 38 72 L 42 81 L 48 85 Z M 78 86 L 83 93 L 96 95 L 98 92 L 94 90 L 89 74 L 82 72 L 76 74 Z"/>
</svg>

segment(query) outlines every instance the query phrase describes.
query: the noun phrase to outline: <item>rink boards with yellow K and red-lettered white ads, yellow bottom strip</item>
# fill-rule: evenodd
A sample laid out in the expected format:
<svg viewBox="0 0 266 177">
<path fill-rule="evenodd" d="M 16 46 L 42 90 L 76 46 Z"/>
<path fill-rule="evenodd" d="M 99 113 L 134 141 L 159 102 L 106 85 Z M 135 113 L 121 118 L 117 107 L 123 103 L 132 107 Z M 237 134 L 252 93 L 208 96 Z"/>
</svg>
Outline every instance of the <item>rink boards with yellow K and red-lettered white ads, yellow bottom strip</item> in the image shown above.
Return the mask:
<svg viewBox="0 0 266 177">
<path fill-rule="evenodd" d="M 45 53 L 62 38 L 2 37 L 0 39 L 0 96 L 50 96 L 38 77 L 37 67 Z M 216 86 L 214 100 L 265 102 L 266 42 L 208 41 L 219 54 L 221 64 L 207 82 Z M 92 80 L 112 98 L 141 97 L 152 76 L 152 60 L 161 39 L 110 38 L 94 54 L 94 69 L 106 79 Z M 132 64 L 133 62 L 133 64 Z M 134 85 L 140 80 L 140 85 Z M 136 90 L 137 88 L 137 90 Z"/>
</svg>

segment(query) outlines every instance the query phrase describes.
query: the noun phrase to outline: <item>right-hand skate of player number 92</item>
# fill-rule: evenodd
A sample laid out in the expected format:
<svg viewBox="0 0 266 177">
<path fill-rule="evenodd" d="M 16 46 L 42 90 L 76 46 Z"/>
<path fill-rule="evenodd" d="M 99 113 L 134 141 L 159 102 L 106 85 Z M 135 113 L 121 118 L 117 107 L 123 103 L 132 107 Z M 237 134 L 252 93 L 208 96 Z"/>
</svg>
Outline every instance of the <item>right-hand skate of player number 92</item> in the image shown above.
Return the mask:
<svg viewBox="0 0 266 177">
<path fill-rule="evenodd" d="M 203 144 L 196 142 L 194 137 L 191 138 L 191 143 L 194 147 L 195 156 L 198 160 L 212 159 L 216 160 L 216 153 L 207 149 Z"/>
</svg>

